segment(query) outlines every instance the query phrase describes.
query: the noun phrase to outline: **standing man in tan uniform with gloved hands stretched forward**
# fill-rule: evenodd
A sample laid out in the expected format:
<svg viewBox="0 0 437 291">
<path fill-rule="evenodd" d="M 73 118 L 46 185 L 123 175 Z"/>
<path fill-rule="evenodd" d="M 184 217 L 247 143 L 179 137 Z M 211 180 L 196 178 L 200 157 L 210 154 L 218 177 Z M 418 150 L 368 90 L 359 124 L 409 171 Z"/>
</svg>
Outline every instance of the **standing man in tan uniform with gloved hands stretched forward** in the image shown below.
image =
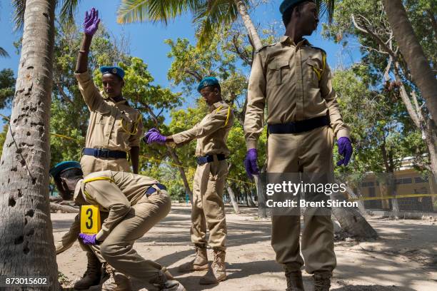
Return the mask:
<svg viewBox="0 0 437 291">
<path fill-rule="evenodd" d="M 197 139 L 197 169 L 194 175 L 193 206 L 191 212 L 191 241 L 196 247 L 196 257 L 179 267 L 180 272 L 209 269 L 200 283 L 215 284 L 226 279 L 226 218 L 223 189 L 228 174 L 226 147 L 228 133 L 233 126 L 233 111 L 221 99 L 221 88 L 214 77 L 204 78 L 198 87 L 199 93 L 209 105 L 209 114 L 188 131 L 173 136 L 161 136 L 152 128 L 146 133 L 147 143 L 176 143 L 184 145 Z M 206 225 L 209 242 L 206 241 Z M 214 261 L 208 266 L 206 245 L 213 248 Z"/>
</svg>

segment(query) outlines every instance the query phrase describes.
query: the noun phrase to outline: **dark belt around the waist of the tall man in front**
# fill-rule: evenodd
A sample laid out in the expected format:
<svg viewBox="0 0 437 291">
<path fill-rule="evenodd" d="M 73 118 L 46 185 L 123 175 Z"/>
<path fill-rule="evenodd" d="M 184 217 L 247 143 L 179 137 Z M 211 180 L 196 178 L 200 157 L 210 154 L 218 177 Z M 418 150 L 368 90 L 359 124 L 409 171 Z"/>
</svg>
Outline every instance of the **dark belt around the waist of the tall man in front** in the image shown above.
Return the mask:
<svg viewBox="0 0 437 291">
<path fill-rule="evenodd" d="M 269 124 L 268 133 L 303 133 L 322 126 L 328 126 L 330 123 L 328 116 L 320 116 L 305 121 Z"/>
</svg>

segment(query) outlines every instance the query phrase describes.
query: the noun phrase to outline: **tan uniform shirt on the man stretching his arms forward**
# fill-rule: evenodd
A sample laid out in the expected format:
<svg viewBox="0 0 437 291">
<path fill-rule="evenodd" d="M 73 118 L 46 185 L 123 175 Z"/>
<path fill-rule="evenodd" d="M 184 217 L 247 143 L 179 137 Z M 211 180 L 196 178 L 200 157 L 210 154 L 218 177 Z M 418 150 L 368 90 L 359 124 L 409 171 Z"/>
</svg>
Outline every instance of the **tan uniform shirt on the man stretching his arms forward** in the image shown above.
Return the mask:
<svg viewBox="0 0 437 291">
<path fill-rule="evenodd" d="M 209 114 L 201 122 L 188 131 L 176 133 L 172 138 L 176 145 L 197 138 L 196 157 L 218 153 L 229 155 L 226 140 L 233 126 L 233 119 L 233 111 L 228 103 L 218 101 L 209 106 Z"/>
</svg>

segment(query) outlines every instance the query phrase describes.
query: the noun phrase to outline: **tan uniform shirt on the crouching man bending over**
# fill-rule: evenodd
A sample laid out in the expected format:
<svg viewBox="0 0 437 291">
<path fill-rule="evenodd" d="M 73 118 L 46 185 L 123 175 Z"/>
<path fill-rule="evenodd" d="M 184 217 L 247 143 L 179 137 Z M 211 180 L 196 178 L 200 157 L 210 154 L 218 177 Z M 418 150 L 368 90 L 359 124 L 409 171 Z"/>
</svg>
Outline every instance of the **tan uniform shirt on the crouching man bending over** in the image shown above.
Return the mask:
<svg viewBox="0 0 437 291">
<path fill-rule="evenodd" d="M 107 179 L 97 180 L 101 177 Z M 96 235 L 97 240 L 104 240 L 129 213 L 131 206 L 144 197 L 151 185 L 157 183 L 157 180 L 144 175 L 104 170 L 80 180 L 74 191 L 74 200 L 78 205 L 99 205 L 101 211 L 109 212 Z"/>
</svg>

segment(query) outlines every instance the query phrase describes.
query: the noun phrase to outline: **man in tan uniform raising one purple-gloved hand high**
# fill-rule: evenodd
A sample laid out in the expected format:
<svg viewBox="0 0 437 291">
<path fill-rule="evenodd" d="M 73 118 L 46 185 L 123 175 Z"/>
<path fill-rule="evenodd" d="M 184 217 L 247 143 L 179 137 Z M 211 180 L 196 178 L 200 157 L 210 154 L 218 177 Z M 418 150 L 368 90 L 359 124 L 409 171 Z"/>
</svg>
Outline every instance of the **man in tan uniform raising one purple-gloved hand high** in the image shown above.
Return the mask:
<svg viewBox="0 0 437 291">
<path fill-rule="evenodd" d="M 107 98 L 104 98 L 94 85 L 87 69 L 89 48 L 99 22 L 99 11 L 91 9 L 86 12 L 84 39 L 76 63 L 75 76 L 79 82 L 79 90 L 91 113 L 86 145 L 82 151 L 82 170 L 84 175 L 100 170 L 131 172 L 127 160 L 127 153 L 129 153 L 134 173 L 138 173 L 143 121 L 141 113 L 129 106 L 122 96 L 124 71 L 119 67 L 100 68 L 104 92 L 107 95 Z M 79 228 L 78 215 L 70 230 L 56 242 L 56 254 L 64 252 L 73 245 L 79 235 Z M 87 252 L 86 257 L 88 259 L 86 272 L 84 277 L 74 285 L 75 289 L 88 289 L 100 281 L 101 262 L 92 252 Z"/>
</svg>

